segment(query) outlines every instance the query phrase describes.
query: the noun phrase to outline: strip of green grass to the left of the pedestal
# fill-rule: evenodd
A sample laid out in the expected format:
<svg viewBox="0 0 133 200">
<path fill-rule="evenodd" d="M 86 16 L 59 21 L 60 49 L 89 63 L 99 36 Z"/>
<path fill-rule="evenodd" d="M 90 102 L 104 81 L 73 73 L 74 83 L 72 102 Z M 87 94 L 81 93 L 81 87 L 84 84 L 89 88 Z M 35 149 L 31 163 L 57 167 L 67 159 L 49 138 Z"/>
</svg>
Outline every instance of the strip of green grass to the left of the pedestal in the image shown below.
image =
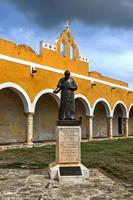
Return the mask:
<svg viewBox="0 0 133 200">
<path fill-rule="evenodd" d="M 0 152 L 0 168 L 46 168 L 55 160 L 55 145 Z"/>
</svg>

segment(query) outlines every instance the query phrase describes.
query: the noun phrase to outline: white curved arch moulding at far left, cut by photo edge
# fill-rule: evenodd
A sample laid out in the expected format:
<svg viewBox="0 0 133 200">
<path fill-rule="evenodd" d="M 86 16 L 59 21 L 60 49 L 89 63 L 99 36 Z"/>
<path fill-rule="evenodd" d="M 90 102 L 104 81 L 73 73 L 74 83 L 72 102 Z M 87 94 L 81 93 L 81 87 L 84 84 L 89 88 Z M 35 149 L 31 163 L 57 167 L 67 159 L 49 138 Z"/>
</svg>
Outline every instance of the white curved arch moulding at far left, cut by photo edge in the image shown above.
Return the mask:
<svg viewBox="0 0 133 200">
<path fill-rule="evenodd" d="M 0 90 L 2 90 L 4 88 L 9 88 L 9 89 L 13 90 L 14 92 L 16 92 L 23 102 L 24 111 L 31 112 L 30 98 L 29 98 L 28 94 L 26 93 L 26 91 L 22 87 L 20 87 L 16 83 L 7 82 L 7 83 L 0 84 Z"/>
</svg>

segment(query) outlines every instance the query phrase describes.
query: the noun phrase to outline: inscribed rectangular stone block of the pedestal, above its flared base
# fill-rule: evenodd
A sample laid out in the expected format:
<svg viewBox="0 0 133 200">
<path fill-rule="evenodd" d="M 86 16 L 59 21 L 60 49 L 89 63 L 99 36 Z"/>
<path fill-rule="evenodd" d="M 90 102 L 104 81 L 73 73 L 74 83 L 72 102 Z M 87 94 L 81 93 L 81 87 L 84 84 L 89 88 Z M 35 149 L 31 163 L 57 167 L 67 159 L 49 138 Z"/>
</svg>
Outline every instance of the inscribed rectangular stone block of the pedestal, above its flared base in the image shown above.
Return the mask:
<svg viewBox="0 0 133 200">
<path fill-rule="evenodd" d="M 80 127 L 57 127 L 56 163 L 80 163 Z"/>
</svg>

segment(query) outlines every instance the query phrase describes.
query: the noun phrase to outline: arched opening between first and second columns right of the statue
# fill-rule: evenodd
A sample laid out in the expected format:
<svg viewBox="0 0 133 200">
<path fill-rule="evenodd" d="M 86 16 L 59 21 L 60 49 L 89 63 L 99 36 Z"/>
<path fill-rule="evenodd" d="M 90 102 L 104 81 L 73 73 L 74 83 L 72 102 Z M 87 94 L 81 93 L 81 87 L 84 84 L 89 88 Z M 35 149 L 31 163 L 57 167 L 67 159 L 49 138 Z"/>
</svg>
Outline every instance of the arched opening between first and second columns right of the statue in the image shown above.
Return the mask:
<svg viewBox="0 0 133 200">
<path fill-rule="evenodd" d="M 98 101 L 93 108 L 93 138 L 107 137 L 107 117 L 110 108 L 104 101 Z"/>
</svg>

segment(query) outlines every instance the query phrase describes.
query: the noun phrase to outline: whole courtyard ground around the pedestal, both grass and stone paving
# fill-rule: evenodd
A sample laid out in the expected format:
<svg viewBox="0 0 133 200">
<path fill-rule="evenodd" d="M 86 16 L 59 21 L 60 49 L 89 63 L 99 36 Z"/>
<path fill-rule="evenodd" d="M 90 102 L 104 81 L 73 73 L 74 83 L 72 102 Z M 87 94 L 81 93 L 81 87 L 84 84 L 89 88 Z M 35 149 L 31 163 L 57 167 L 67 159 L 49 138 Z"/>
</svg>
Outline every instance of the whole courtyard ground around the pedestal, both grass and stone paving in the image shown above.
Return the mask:
<svg viewBox="0 0 133 200">
<path fill-rule="evenodd" d="M 76 186 L 49 180 L 54 144 L 6 148 L 0 151 L 1 200 L 133 199 L 132 138 L 82 143 L 82 163 L 90 178 Z"/>
</svg>

